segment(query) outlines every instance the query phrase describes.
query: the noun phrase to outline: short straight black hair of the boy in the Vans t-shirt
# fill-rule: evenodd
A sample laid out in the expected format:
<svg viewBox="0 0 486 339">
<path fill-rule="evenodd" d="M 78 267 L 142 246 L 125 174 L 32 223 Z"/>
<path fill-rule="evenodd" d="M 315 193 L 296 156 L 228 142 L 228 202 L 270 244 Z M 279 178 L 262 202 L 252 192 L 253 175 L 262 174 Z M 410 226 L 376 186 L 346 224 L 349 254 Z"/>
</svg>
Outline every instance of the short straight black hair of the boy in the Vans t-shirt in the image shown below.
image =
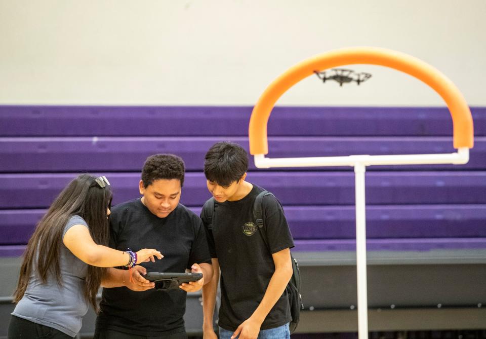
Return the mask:
<svg viewBox="0 0 486 339">
<path fill-rule="evenodd" d="M 231 141 L 215 143 L 204 158 L 204 174 L 209 181 L 229 186 L 248 171 L 248 153 Z"/>
</svg>

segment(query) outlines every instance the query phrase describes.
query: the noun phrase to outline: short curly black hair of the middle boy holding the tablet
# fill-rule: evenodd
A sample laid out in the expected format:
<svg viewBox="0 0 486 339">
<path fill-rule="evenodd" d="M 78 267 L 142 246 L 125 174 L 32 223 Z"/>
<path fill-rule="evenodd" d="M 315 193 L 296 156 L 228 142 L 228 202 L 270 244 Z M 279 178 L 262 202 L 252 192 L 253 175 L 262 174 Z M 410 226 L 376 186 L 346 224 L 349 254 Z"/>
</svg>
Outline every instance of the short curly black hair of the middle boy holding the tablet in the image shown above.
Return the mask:
<svg viewBox="0 0 486 339">
<path fill-rule="evenodd" d="M 184 161 L 173 154 L 155 154 L 145 160 L 142 168 L 143 186 L 147 188 L 158 179 L 179 179 L 184 184 Z"/>
</svg>

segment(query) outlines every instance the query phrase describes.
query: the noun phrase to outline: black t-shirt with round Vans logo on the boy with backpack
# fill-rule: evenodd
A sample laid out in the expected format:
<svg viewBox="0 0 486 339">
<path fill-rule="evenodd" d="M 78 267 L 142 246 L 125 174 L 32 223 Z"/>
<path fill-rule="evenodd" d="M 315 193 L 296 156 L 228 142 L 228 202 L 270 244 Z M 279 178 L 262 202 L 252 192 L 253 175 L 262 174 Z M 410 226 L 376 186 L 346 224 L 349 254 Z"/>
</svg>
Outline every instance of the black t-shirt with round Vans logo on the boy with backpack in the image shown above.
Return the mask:
<svg viewBox="0 0 486 339">
<path fill-rule="evenodd" d="M 219 326 L 234 331 L 260 304 L 275 272 L 272 253 L 294 247 L 289 225 L 279 202 L 272 196 L 262 201 L 266 239 L 253 218 L 253 203 L 263 189 L 238 201 L 215 201 L 212 232 L 205 224 L 211 257 L 221 270 Z M 203 212 L 201 218 L 206 220 Z M 266 242 L 266 243 L 265 243 Z M 275 328 L 292 320 L 287 292 L 268 313 L 261 329 Z"/>
</svg>

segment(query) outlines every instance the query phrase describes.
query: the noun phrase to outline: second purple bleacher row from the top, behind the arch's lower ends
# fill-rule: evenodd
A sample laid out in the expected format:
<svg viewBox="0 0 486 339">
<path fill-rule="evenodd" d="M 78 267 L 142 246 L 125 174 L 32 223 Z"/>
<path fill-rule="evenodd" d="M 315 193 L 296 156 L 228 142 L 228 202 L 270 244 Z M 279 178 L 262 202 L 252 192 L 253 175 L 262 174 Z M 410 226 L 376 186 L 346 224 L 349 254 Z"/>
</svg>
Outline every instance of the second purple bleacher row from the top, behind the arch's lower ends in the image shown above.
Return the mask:
<svg viewBox="0 0 486 339">
<path fill-rule="evenodd" d="M 0 159 L 3 160 L 0 172 L 140 171 L 145 159 L 156 153 L 175 153 L 184 159 L 187 170 L 200 171 L 208 148 L 221 139 L 229 139 L 248 148 L 245 137 L 0 138 Z M 454 148 L 450 137 L 271 137 L 268 157 L 452 152 Z M 466 165 L 371 166 L 368 169 L 477 170 L 484 169 L 485 163 L 486 137 L 477 137 Z M 255 169 L 253 161 L 250 164 L 250 168 Z"/>
</svg>

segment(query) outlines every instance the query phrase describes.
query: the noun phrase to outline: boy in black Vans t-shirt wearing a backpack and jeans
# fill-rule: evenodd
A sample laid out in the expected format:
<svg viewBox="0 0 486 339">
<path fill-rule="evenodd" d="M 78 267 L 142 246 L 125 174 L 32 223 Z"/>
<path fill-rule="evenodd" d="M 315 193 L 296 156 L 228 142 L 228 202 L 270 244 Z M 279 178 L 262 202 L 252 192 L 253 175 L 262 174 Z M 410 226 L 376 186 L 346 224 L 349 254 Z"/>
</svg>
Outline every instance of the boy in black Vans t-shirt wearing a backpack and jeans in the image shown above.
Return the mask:
<svg viewBox="0 0 486 339">
<path fill-rule="evenodd" d="M 245 181 L 248 155 L 232 142 L 218 142 L 206 154 L 204 173 L 215 199 L 205 224 L 213 262 L 213 279 L 203 287 L 204 335 L 213 329 L 215 297 L 221 272 L 220 339 L 290 338 L 286 286 L 292 277 L 294 241 L 279 202 L 263 198 L 265 239 L 253 218 L 253 203 L 263 191 Z"/>
</svg>

